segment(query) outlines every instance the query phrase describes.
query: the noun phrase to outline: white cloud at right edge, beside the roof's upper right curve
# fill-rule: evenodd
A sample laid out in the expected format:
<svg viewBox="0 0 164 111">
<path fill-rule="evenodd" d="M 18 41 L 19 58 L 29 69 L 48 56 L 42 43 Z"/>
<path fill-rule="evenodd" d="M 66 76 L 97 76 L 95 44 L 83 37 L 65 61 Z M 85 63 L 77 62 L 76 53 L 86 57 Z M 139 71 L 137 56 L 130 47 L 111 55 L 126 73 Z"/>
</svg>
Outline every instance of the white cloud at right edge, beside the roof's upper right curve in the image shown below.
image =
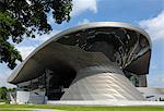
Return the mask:
<svg viewBox="0 0 164 111">
<path fill-rule="evenodd" d="M 152 40 L 164 39 L 164 11 L 156 17 L 141 21 L 139 25 L 150 34 Z"/>
</svg>

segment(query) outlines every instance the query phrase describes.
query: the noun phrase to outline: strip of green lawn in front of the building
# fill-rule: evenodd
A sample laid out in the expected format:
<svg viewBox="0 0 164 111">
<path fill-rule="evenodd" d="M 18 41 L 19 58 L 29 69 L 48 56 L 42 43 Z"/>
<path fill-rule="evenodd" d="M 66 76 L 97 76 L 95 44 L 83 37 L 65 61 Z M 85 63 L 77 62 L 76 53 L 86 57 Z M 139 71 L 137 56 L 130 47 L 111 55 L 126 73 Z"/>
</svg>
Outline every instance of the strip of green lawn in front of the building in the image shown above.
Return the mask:
<svg viewBox="0 0 164 111">
<path fill-rule="evenodd" d="M 0 104 L 0 111 L 24 111 L 25 109 L 57 109 L 66 111 L 164 111 L 164 107 L 72 107 L 48 104 Z"/>
</svg>

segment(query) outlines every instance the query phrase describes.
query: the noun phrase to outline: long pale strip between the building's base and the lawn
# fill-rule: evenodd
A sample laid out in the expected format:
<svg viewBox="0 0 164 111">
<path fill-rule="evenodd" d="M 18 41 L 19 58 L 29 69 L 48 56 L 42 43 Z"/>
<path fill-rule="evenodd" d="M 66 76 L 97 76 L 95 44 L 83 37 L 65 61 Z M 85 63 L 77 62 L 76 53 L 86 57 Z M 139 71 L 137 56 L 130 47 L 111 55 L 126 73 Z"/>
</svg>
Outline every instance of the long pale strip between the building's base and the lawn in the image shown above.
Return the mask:
<svg viewBox="0 0 164 111">
<path fill-rule="evenodd" d="M 84 100 L 84 101 L 48 101 L 48 104 L 54 106 L 154 106 L 164 107 L 164 101 L 130 101 L 130 100 Z"/>
</svg>

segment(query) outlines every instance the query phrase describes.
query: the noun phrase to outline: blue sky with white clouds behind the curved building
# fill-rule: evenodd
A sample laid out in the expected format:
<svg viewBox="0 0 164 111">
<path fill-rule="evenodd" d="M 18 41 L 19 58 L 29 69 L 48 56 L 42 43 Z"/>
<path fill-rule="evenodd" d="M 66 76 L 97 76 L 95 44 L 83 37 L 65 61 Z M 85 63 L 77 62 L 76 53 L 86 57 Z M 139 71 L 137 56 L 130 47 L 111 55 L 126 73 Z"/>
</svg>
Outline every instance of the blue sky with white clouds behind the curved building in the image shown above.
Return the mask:
<svg viewBox="0 0 164 111">
<path fill-rule="evenodd" d="M 54 29 L 49 35 L 36 35 L 15 45 L 23 59 L 47 39 L 72 26 L 92 22 L 130 23 L 148 32 L 152 39 L 148 86 L 164 88 L 164 0 L 73 0 L 69 23 L 57 25 L 50 14 L 48 22 Z M 0 86 L 12 87 L 7 83 L 11 73 L 7 64 L 0 64 Z"/>
</svg>

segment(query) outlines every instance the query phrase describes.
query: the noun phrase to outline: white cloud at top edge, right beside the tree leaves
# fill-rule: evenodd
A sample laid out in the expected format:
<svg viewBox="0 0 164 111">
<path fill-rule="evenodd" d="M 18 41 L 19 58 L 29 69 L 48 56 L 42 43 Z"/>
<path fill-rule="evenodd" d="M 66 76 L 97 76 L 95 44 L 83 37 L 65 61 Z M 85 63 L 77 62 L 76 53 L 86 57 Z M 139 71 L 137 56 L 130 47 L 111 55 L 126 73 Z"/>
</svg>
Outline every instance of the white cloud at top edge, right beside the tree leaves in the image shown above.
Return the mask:
<svg viewBox="0 0 164 111">
<path fill-rule="evenodd" d="M 73 0 L 71 15 L 79 15 L 84 11 L 97 12 L 97 0 Z"/>
</svg>

